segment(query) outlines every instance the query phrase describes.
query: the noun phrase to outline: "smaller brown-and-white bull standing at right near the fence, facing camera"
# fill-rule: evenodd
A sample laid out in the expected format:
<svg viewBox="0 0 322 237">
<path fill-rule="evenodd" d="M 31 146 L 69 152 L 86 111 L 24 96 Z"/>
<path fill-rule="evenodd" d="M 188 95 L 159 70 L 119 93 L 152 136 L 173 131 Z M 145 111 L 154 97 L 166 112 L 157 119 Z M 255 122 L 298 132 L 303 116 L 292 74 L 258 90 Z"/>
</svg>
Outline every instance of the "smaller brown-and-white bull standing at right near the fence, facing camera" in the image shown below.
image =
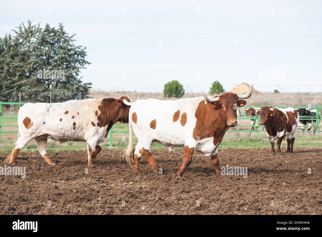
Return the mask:
<svg viewBox="0 0 322 237">
<path fill-rule="evenodd" d="M 277 140 L 277 153 L 281 153 L 280 145 L 286 138 L 287 152 L 293 153 L 293 144 L 298 130 L 299 117 L 294 108 L 279 109 L 274 107 L 263 106 L 256 108 L 257 114 L 260 115 L 260 125 L 265 126 L 266 135 L 270 139 L 272 153 L 275 153 L 274 140 Z"/>
</svg>

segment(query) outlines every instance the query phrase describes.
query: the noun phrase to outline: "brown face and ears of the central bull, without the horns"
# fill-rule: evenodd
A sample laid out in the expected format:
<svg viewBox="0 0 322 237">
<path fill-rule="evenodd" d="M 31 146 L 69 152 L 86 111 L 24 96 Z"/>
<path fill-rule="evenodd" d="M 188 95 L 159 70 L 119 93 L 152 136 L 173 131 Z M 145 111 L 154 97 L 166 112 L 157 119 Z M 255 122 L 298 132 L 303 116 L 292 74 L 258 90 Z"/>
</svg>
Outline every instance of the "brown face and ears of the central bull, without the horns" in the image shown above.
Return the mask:
<svg viewBox="0 0 322 237">
<path fill-rule="evenodd" d="M 238 100 L 237 94 L 225 93 L 219 96 L 219 101 L 212 104 L 213 109 L 220 109 L 228 127 L 237 125 L 237 108 L 246 105 L 245 100 Z"/>
</svg>

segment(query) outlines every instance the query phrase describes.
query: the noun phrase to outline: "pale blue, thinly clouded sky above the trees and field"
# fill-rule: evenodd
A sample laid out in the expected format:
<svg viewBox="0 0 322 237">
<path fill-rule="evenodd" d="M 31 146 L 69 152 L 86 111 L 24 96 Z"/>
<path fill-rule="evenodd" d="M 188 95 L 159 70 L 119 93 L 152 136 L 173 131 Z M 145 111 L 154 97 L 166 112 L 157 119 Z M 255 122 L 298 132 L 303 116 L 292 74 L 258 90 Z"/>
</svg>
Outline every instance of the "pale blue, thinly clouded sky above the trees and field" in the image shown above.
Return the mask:
<svg viewBox="0 0 322 237">
<path fill-rule="evenodd" d="M 105 90 L 162 91 L 176 79 L 189 92 L 215 80 L 228 91 L 246 82 L 322 92 L 321 13 L 322 1 L 11 0 L 1 4 L 0 36 L 21 21 L 62 23 L 87 46 L 83 81 Z"/>
</svg>

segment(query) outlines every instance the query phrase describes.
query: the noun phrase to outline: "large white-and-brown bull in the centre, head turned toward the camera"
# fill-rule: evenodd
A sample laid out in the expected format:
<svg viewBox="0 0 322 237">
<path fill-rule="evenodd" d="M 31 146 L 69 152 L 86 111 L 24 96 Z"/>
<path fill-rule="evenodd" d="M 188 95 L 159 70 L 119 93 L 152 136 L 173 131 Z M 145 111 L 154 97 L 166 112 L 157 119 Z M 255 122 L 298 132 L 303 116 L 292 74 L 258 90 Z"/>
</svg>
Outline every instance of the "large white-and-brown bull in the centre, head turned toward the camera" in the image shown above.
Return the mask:
<svg viewBox="0 0 322 237">
<path fill-rule="evenodd" d="M 230 127 L 237 125 L 237 106 L 246 105 L 245 95 L 224 93 L 209 98 L 186 98 L 180 100 L 137 100 L 131 105 L 129 113 L 129 143 L 125 152 L 126 160 L 133 172 L 139 172 L 139 161 L 142 156 L 155 171 L 159 165 L 151 156 L 153 142 L 163 144 L 170 149 L 184 147 L 182 166 L 178 177 L 182 177 L 186 167 L 192 161 L 194 152 L 211 157 L 211 161 L 220 176 L 217 147 Z M 132 129 L 137 136 L 137 145 L 132 151 Z"/>
</svg>

